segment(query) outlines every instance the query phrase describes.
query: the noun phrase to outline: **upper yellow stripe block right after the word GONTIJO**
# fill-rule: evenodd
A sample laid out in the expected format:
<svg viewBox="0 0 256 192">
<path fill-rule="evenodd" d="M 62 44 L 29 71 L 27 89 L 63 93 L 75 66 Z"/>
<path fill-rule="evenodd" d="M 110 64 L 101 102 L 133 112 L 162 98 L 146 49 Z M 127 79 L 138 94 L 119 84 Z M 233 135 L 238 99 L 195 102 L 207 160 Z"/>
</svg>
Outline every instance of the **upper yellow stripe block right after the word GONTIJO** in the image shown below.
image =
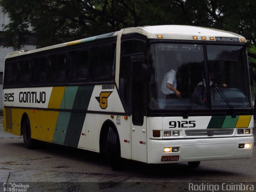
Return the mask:
<svg viewBox="0 0 256 192">
<path fill-rule="evenodd" d="M 48 108 L 59 109 L 64 95 L 65 87 L 53 87 Z"/>
</svg>

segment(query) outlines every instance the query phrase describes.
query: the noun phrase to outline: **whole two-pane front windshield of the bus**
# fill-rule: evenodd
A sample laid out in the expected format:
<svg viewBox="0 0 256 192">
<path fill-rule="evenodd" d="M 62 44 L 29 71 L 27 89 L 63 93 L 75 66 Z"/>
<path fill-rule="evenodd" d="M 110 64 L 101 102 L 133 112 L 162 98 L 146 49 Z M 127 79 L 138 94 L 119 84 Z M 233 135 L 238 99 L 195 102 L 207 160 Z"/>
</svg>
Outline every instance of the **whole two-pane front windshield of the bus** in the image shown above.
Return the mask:
<svg viewBox="0 0 256 192">
<path fill-rule="evenodd" d="M 151 44 L 150 109 L 251 108 L 246 55 L 244 46 Z"/>
</svg>

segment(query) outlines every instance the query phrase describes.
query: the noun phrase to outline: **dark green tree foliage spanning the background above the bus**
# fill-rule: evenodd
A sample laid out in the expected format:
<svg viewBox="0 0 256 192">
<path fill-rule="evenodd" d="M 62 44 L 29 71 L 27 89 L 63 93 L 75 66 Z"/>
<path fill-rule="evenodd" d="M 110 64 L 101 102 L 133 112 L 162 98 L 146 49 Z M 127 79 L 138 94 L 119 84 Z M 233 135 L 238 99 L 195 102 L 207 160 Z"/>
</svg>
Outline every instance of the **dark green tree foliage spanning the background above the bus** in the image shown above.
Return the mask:
<svg viewBox="0 0 256 192">
<path fill-rule="evenodd" d="M 241 34 L 256 45 L 255 0 L 0 0 L 11 19 L 7 46 L 20 48 L 28 27 L 38 47 L 121 28 L 183 24 Z M 14 38 L 16 37 L 16 38 Z"/>
</svg>

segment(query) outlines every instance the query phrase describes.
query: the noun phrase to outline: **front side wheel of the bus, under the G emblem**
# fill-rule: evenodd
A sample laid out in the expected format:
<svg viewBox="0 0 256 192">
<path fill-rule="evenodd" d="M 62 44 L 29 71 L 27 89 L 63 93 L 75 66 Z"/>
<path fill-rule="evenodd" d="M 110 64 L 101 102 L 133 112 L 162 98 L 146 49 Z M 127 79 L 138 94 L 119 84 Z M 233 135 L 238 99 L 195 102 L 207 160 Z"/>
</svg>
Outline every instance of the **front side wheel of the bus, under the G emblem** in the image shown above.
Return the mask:
<svg viewBox="0 0 256 192">
<path fill-rule="evenodd" d="M 120 170 L 122 168 L 120 142 L 116 131 L 111 127 L 108 129 L 106 151 L 108 163 L 112 170 Z"/>
</svg>

